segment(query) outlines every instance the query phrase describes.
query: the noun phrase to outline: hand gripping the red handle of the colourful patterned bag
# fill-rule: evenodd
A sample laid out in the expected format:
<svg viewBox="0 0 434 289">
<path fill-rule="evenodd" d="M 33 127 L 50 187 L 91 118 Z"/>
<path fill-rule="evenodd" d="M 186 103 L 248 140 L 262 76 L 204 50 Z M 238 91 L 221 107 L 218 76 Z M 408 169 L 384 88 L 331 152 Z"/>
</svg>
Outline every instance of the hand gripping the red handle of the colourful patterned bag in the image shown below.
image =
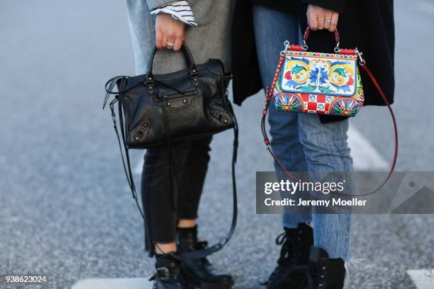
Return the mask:
<svg viewBox="0 0 434 289">
<path fill-rule="evenodd" d="M 330 32 L 335 32 L 338 26 L 339 13 L 333 10 L 309 4 L 306 15 L 312 30 L 328 29 Z"/>
</svg>

